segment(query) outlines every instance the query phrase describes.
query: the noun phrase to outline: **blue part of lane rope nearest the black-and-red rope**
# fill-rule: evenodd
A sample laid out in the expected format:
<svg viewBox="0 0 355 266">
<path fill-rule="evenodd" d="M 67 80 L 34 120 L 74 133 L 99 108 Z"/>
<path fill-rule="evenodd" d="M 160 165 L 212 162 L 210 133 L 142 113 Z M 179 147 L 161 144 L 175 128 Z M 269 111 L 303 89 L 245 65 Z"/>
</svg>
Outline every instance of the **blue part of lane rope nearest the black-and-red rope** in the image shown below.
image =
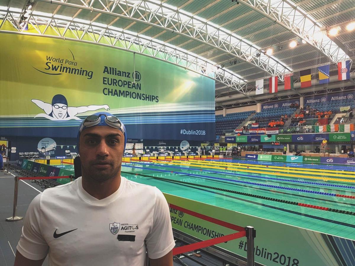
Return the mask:
<svg viewBox="0 0 355 266">
<path fill-rule="evenodd" d="M 131 166 L 131 165 L 130 166 L 122 165 L 122 166 L 138 168 L 138 169 L 144 169 L 144 167 Z M 172 171 L 160 170 L 160 169 L 154 169 L 154 170 L 155 171 L 159 171 L 159 172 L 166 172 L 166 173 L 171 173 L 172 172 Z M 260 183 L 255 183 L 255 182 L 247 182 L 247 181 L 240 181 L 240 180 L 229 179 L 229 178 L 204 176 L 202 174 L 190 174 L 190 173 L 174 172 L 174 171 L 173 171 L 173 173 L 175 173 L 175 174 L 183 174 L 184 176 L 210 178 L 210 179 L 223 180 L 223 181 L 229 181 L 229 182 L 235 182 L 235 183 L 241 183 L 241 184 L 260 185 L 261 187 L 268 187 L 268 188 L 278 188 L 278 189 L 285 189 L 285 190 L 293 190 L 293 191 L 298 191 L 298 192 L 313 193 L 313 194 L 326 195 L 326 196 L 337 196 L 337 194 L 334 194 L 334 193 L 326 193 L 326 192 L 312 191 L 312 190 L 299 189 L 299 188 L 286 188 L 286 187 L 280 187 L 278 185 L 266 185 L 266 184 L 260 184 Z"/>
</svg>

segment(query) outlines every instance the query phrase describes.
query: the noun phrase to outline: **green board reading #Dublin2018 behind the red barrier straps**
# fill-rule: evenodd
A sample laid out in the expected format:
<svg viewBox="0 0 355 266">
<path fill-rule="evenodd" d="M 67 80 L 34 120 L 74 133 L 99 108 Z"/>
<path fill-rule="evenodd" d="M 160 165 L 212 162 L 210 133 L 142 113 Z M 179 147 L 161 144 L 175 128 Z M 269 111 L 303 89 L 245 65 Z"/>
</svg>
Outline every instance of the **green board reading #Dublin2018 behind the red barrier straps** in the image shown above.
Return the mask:
<svg viewBox="0 0 355 266">
<path fill-rule="evenodd" d="M 224 195 L 225 194 L 221 194 Z M 354 238 L 346 239 L 309 230 L 307 228 L 288 225 L 248 215 L 232 209 L 224 209 L 214 204 L 180 198 L 176 195 L 164 196 L 170 204 L 170 219 L 173 228 L 192 235 L 201 240 L 235 233 L 232 229 L 217 225 L 211 219 L 197 218 L 174 209 L 178 206 L 207 217 L 218 219 L 233 225 L 256 229 L 255 261 L 267 266 L 350 266 L 354 261 Z M 232 207 L 233 208 L 233 207 Z M 302 208 L 302 207 L 300 207 Z M 302 215 L 302 213 L 299 213 Z M 320 229 L 321 230 L 321 229 Z M 352 240 L 351 240 L 352 239 Z M 246 238 L 238 238 L 217 244 L 220 248 L 246 257 Z M 344 248 L 348 247 L 348 248 Z M 344 263 L 345 262 L 345 263 Z"/>
</svg>

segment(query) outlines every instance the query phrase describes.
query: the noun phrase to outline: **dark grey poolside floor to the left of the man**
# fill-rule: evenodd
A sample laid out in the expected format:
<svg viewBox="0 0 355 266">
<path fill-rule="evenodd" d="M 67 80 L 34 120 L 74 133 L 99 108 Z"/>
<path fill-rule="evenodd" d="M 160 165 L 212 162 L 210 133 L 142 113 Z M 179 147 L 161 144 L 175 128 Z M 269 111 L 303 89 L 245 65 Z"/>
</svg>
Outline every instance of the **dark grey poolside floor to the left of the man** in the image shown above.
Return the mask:
<svg viewBox="0 0 355 266">
<path fill-rule="evenodd" d="M 17 222 L 5 221 L 6 218 L 12 216 L 14 185 L 14 176 L 0 171 L 0 266 L 13 265 L 17 242 L 21 236 L 22 220 Z M 19 181 L 17 216 L 25 216 L 29 203 L 40 193 L 37 190 L 43 191 L 44 189 L 29 180 Z M 48 265 L 48 258 L 43 265 Z"/>
</svg>

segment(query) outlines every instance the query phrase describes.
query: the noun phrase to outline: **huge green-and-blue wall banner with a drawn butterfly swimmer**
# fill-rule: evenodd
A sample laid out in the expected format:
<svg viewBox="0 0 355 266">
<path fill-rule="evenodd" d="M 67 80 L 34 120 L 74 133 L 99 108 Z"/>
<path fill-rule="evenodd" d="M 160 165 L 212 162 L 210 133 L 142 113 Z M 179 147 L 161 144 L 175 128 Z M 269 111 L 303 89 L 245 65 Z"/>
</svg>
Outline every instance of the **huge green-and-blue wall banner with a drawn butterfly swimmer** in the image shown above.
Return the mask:
<svg viewBox="0 0 355 266">
<path fill-rule="evenodd" d="M 0 62 L 3 135 L 76 137 L 83 117 L 109 111 L 129 138 L 215 139 L 214 80 L 185 68 L 100 45 L 5 33 Z"/>
</svg>

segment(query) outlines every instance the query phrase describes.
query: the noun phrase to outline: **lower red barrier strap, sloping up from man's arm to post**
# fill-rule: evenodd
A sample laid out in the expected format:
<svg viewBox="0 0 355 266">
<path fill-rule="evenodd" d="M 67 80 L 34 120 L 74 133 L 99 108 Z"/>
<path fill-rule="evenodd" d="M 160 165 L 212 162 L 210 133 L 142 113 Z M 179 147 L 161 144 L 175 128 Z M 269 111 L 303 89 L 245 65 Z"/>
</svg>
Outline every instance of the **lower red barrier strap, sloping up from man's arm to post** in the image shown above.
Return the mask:
<svg viewBox="0 0 355 266">
<path fill-rule="evenodd" d="M 244 229 L 244 228 L 243 228 Z M 246 231 L 241 231 L 234 234 L 224 235 L 223 237 L 212 238 L 208 240 L 204 240 L 201 242 L 193 243 L 190 245 L 179 246 L 178 248 L 173 249 L 173 255 L 178 255 L 181 253 L 185 253 L 191 250 L 206 248 L 207 246 L 216 245 L 222 242 L 227 242 L 233 239 L 241 238 L 246 236 Z"/>
</svg>

